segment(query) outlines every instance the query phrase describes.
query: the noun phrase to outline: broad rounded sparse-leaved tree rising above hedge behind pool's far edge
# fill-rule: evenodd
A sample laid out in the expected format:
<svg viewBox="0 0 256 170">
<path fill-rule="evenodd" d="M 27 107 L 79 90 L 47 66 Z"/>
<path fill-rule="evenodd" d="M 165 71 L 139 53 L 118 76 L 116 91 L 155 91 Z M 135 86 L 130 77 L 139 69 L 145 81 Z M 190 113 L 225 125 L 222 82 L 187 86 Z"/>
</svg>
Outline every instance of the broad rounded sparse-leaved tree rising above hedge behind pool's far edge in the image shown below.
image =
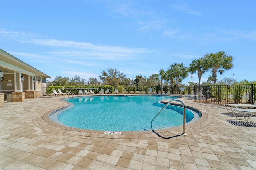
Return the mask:
<svg viewBox="0 0 256 170">
<path fill-rule="evenodd" d="M 126 75 L 116 68 L 108 68 L 107 71 L 103 70 L 101 75 L 99 75 L 100 80 L 102 80 L 103 84 L 108 84 L 117 87 L 120 85 L 121 80 L 126 77 Z"/>
</svg>

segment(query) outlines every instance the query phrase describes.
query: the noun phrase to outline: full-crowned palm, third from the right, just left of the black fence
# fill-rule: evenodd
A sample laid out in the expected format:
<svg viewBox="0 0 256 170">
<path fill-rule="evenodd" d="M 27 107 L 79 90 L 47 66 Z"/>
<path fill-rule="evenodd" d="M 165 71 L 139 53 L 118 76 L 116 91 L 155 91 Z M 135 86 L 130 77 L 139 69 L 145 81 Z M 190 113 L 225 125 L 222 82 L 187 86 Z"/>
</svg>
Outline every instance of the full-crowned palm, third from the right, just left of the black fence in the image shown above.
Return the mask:
<svg viewBox="0 0 256 170">
<path fill-rule="evenodd" d="M 186 78 L 188 76 L 188 68 L 185 67 L 183 63 L 174 63 L 170 65 L 168 72 L 169 75 L 173 75 L 175 77 L 175 94 L 177 94 L 178 83 L 181 82 L 183 78 Z"/>
</svg>

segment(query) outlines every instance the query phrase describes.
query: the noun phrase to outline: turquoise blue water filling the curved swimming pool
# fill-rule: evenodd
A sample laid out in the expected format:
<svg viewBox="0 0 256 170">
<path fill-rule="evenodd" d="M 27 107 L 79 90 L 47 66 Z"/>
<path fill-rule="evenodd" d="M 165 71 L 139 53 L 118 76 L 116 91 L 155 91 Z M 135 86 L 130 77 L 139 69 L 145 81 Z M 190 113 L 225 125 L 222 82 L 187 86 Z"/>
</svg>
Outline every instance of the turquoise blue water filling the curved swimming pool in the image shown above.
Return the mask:
<svg viewBox="0 0 256 170">
<path fill-rule="evenodd" d="M 58 113 L 64 125 L 100 131 L 143 131 L 150 129 L 151 120 L 164 107 L 158 103 L 170 96 L 84 96 L 66 100 L 74 106 Z M 186 122 L 199 116 L 186 109 Z M 51 118 L 51 117 L 50 117 Z M 152 129 L 183 124 L 183 107 L 168 106 L 153 121 Z M 152 130 L 150 129 L 150 130 Z"/>
</svg>

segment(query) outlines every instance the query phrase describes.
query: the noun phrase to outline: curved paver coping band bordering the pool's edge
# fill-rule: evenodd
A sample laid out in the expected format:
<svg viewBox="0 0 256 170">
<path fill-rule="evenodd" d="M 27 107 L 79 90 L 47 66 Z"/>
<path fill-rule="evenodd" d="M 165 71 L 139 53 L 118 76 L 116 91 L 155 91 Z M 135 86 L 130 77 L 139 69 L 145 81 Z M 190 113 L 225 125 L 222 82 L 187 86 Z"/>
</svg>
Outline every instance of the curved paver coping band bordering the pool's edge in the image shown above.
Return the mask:
<svg viewBox="0 0 256 170">
<path fill-rule="evenodd" d="M 116 94 L 115 94 L 116 95 Z M 96 95 L 93 95 L 96 96 Z M 98 95 L 97 95 L 98 96 Z M 80 96 L 82 97 L 82 96 Z M 158 129 L 158 130 L 149 130 L 149 131 L 121 131 L 121 134 L 104 134 L 106 131 L 97 131 L 90 129 L 79 129 L 74 127 L 68 127 L 64 125 L 60 125 L 50 119 L 50 115 L 58 110 L 64 109 L 68 107 L 69 102 L 63 100 L 63 98 L 59 99 L 63 102 L 66 102 L 66 106 L 58 107 L 57 109 L 53 109 L 45 113 L 42 117 L 36 117 L 35 121 L 39 127 L 42 129 L 48 129 L 50 131 L 55 131 L 57 133 L 62 133 L 66 135 L 77 135 L 84 137 L 101 137 L 108 139 L 149 139 L 149 138 L 170 138 L 177 135 L 181 135 L 183 133 L 183 125 L 178 127 L 166 128 L 166 129 Z M 187 105 L 186 105 L 187 106 Z M 191 106 L 188 106 L 191 107 Z M 208 114 L 206 111 L 200 110 L 200 108 L 195 108 L 201 112 L 202 116 L 198 121 L 193 123 L 186 124 L 186 133 L 189 131 L 194 131 L 201 129 L 202 126 L 209 125 L 211 123 L 211 119 L 208 120 Z M 208 121 L 207 121 L 208 120 Z"/>
</svg>

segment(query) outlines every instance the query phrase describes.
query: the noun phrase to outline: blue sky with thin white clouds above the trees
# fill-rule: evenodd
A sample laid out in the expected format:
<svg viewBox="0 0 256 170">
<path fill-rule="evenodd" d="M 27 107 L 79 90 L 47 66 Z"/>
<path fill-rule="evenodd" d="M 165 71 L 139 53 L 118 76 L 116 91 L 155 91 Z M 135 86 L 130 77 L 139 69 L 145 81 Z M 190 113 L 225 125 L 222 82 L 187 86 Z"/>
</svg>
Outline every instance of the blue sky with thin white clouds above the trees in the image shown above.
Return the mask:
<svg viewBox="0 0 256 170">
<path fill-rule="evenodd" d="M 0 48 L 52 78 L 85 80 L 107 68 L 147 78 L 175 62 L 189 66 L 225 51 L 234 68 L 217 79 L 255 81 L 255 6 L 255 0 L 8 0 L 1 2 Z"/>
</svg>

